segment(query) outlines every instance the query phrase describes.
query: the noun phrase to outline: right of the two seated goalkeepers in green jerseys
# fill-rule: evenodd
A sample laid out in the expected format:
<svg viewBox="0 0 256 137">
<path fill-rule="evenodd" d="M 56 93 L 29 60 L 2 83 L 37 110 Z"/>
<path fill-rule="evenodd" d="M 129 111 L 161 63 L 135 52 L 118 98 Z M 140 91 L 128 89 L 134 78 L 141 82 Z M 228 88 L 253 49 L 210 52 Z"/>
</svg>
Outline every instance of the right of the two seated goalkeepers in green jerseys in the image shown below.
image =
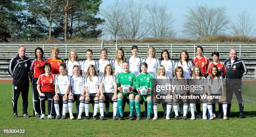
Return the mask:
<svg viewBox="0 0 256 137">
<path fill-rule="evenodd" d="M 148 94 L 147 95 L 140 95 L 140 87 L 147 87 L 148 88 Z M 148 73 L 148 65 L 147 63 L 143 62 L 141 64 L 141 73 L 137 75 L 136 77 L 136 90 L 138 91 L 138 95 L 135 96 L 135 109 L 137 112 L 137 119 L 136 120 L 141 120 L 141 106 L 140 102 L 143 100 L 143 102 L 147 102 L 147 118 L 146 120 L 150 120 L 151 117 L 151 110 L 152 110 L 152 90 L 154 87 L 154 76 Z"/>
</svg>

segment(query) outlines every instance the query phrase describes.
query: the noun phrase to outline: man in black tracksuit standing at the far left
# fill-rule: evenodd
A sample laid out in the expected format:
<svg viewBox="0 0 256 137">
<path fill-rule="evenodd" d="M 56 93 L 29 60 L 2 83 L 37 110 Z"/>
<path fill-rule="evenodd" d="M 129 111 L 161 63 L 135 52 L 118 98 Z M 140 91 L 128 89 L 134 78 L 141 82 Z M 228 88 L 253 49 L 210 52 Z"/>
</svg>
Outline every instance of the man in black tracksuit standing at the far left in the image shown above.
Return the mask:
<svg viewBox="0 0 256 137">
<path fill-rule="evenodd" d="M 18 55 L 13 57 L 9 63 L 9 74 L 13 77 L 13 117 L 18 117 L 17 105 L 18 98 L 22 96 L 23 100 L 23 117 L 28 115 L 28 90 L 29 78 L 28 72 L 31 60 L 25 55 L 26 49 L 23 46 L 18 47 Z"/>
</svg>

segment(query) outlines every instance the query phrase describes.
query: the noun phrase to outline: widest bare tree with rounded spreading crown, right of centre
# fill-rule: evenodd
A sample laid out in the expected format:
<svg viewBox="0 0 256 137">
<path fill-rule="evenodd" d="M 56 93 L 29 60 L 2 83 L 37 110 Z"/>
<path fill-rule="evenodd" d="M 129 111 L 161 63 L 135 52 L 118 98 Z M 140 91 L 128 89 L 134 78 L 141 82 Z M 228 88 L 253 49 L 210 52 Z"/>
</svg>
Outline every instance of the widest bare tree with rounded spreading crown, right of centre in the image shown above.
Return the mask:
<svg viewBox="0 0 256 137">
<path fill-rule="evenodd" d="M 185 16 L 184 33 L 192 38 L 207 37 L 224 32 L 228 27 L 230 18 L 225 7 L 210 7 L 197 5 L 189 7 Z"/>
</svg>

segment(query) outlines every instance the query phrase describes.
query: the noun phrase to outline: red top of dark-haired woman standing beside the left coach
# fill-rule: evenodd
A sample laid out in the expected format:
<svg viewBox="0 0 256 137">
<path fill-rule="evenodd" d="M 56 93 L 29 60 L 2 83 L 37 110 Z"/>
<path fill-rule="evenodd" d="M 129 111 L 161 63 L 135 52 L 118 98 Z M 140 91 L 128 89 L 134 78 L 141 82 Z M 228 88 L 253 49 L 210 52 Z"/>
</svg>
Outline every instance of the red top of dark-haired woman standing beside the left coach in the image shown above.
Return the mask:
<svg viewBox="0 0 256 137">
<path fill-rule="evenodd" d="M 41 61 L 37 60 L 36 58 L 32 61 L 30 70 L 32 70 L 33 77 L 38 78 L 41 74 L 44 73 L 44 63 L 45 60 L 43 58 L 41 59 Z"/>
</svg>

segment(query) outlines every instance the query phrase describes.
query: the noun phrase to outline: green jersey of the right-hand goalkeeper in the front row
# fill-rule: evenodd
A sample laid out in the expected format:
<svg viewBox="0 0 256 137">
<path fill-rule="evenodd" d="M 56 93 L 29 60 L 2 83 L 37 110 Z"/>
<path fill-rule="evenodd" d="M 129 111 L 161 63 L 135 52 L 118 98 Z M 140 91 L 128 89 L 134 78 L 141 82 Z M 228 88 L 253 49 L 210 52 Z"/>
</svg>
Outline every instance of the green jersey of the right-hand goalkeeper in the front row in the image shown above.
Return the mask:
<svg viewBox="0 0 256 137">
<path fill-rule="evenodd" d="M 151 88 L 151 90 L 154 87 L 154 76 L 150 73 L 142 74 L 140 73 L 136 77 L 136 89 L 139 87 L 148 87 Z"/>
</svg>

